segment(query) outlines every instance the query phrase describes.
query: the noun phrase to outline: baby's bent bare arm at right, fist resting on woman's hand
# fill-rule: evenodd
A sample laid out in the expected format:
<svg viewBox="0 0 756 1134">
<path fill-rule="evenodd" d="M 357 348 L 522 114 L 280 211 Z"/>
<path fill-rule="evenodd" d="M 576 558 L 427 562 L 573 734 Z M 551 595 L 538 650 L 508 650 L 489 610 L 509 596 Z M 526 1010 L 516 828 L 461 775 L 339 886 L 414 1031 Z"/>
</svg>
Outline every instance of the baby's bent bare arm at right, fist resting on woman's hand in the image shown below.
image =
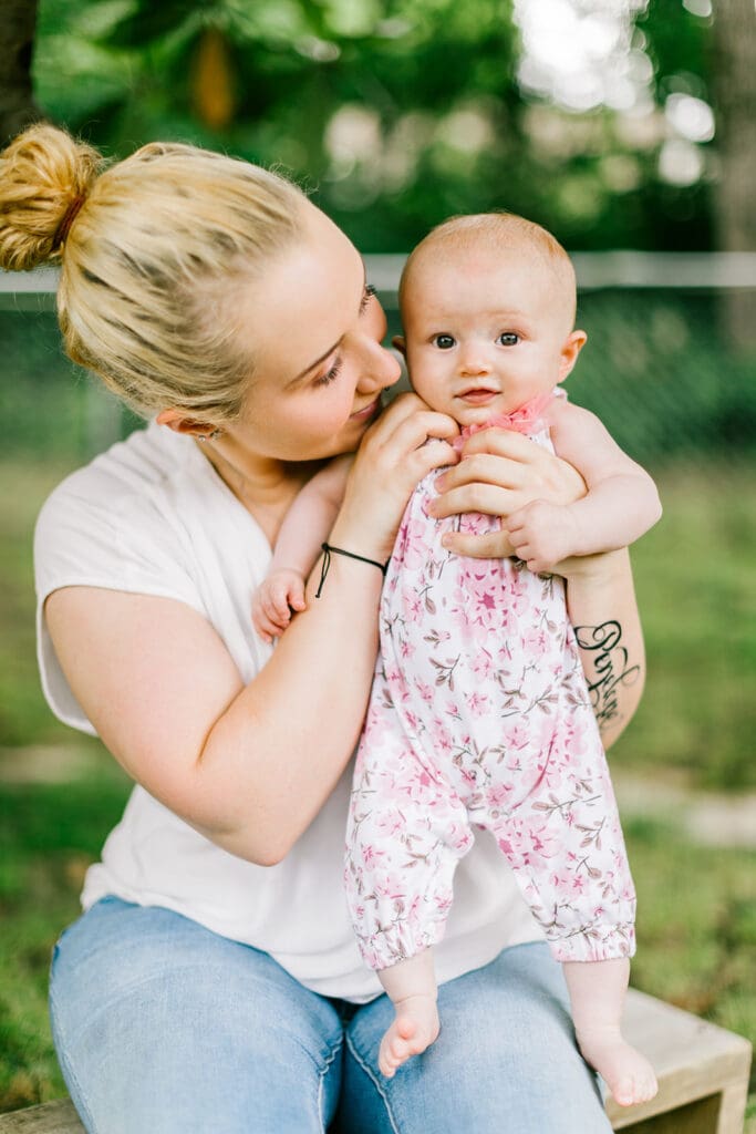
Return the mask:
<svg viewBox="0 0 756 1134">
<path fill-rule="evenodd" d="M 535 500 L 504 522 L 517 555 L 536 573 L 570 556 L 627 547 L 662 514 L 648 473 L 622 452 L 595 414 L 557 401 L 549 425 L 557 455 L 577 468 L 588 492 L 563 507 Z"/>
</svg>

